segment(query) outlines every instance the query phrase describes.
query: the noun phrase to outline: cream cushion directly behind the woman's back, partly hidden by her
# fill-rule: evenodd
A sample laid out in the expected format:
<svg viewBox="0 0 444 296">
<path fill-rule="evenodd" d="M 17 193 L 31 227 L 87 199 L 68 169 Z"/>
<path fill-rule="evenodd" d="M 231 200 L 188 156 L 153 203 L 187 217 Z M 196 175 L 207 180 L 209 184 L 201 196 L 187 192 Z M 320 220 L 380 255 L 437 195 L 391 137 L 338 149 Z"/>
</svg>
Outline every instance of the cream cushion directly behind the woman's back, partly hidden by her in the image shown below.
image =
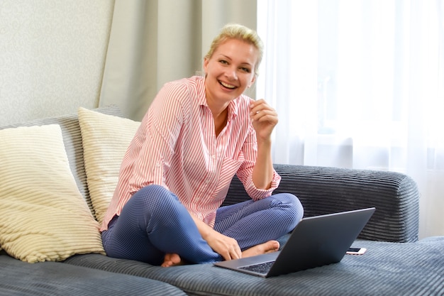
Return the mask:
<svg viewBox="0 0 444 296">
<path fill-rule="evenodd" d="M 89 196 L 101 223 L 116 189 L 123 156 L 140 122 L 82 107 L 78 116 Z"/>
</svg>

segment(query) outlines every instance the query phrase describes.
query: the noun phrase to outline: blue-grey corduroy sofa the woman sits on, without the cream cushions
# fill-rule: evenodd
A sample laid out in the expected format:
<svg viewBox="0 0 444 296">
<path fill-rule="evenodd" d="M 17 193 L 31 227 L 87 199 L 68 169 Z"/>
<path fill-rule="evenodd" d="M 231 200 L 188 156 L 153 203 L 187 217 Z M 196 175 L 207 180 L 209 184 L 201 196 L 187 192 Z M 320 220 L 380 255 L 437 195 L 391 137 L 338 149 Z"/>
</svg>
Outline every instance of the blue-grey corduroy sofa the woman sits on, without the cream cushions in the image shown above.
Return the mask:
<svg viewBox="0 0 444 296">
<path fill-rule="evenodd" d="M 121 116 L 116 106 L 96 111 Z M 94 212 L 77 114 L 15 126 L 47 124 L 62 128 L 72 174 Z M 418 241 L 420 192 L 409 176 L 279 164 L 275 169 L 282 176 L 276 192 L 299 197 L 305 216 L 376 207 L 353 243 L 367 248 L 367 253 L 263 279 L 211 264 L 161 268 L 101 253 L 77 254 L 62 262 L 26 263 L 0 251 L 0 295 L 444 295 L 444 237 Z M 226 204 L 247 198 L 235 177 Z M 281 243 L 286 239 L 282 237 Z"/>
</svg>

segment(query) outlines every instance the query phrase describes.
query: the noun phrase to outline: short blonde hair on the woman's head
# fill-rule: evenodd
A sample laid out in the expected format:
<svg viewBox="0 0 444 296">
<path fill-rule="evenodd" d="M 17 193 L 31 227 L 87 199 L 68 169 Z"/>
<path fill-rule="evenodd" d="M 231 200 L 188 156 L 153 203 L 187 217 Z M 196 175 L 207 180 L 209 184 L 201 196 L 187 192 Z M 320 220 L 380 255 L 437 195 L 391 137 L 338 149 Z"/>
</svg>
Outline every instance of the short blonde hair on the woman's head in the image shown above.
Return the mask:
<svg viewBox="0 0 444 296">
<path fill-rule="evenodd" d="M 219 35 L 217 35 L 216 38 L 213 39 L 213 42 L 211 43 L 210 49 L 208 53 L 206 53 L 205 58 L 211 58 L 214 51 L 219 47 L 219 45 L 221 45 L 228 39 L 243 40 L 246 43 L 250 43 L 257 49 L 255 75 L 259 75 L 258 68 L 260 62 L 262 61 L 262 55 L 264 54 L 264 45 L 262 43 L 262 40 L 260 39 L 259 35 L 257 35 L 256 31 L 238 23 L 228 23 L 223 26 Z"/>
</svg>

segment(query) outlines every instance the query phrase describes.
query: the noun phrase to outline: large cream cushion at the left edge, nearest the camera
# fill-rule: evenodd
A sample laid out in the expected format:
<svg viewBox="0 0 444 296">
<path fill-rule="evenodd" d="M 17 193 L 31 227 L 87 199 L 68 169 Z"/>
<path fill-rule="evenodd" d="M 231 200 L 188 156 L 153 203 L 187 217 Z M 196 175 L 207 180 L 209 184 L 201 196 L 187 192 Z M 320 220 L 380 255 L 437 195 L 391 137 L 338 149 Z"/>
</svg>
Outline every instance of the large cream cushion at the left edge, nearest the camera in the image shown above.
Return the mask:
<svg viewBox="0 0 444 296">
<path fill-rule="evenodd" d="M 60 126 L 1 130 L 0 160 L 0 245 L 9 255 L 35 263 L 104 253 Z"/>
</svg>

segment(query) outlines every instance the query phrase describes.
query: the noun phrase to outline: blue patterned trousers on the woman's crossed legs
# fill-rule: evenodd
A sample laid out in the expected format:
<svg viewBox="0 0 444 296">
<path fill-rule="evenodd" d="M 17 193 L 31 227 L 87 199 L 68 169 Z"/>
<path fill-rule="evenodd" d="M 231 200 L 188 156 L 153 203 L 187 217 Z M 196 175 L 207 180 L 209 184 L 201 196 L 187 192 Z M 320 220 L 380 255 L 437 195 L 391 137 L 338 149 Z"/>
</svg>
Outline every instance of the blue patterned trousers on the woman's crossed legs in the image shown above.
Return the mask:
<svg viewBox="0 0 444 296">
<path fill-rule="evenodd" d="M 214 229 L 236 239 L 244 251 L 291 231 L 302 214 L 299 199 L 294 195 L 276 194 L 257 202 L 221 207 Z M 102 232 L 102 239 L 108 256 L 152 265 L 162 264 L 168 259 L 165 255 L 171 254 L 190 263 L 222 260 L 202 239 L 179 199 L 159 185 L 136 192 L 121 215 Z"/>
</svg>

